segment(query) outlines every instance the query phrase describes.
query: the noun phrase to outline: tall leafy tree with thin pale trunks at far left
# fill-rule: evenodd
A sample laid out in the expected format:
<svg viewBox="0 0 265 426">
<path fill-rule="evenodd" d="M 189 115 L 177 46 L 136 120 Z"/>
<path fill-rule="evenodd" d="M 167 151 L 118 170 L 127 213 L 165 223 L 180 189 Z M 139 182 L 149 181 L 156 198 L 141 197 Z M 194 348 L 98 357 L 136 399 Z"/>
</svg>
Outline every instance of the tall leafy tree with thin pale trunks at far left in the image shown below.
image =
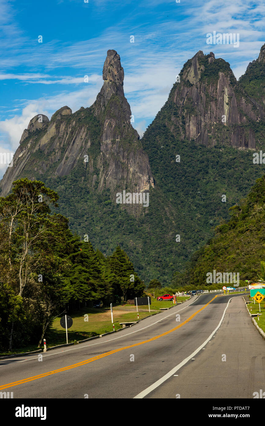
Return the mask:
<svg viewBox="0 0 265 426">
<path fill-rule="evenodd" d="M 23 178 L 14 181 L 13 185 L 10 195 L 0 197 L 0 282 L 3 292 L 7 291 L 4 285 L 10 286 L 14 297 L 17 300 L 22 298 L 23 305 L 31 307 L 34 314 L 32 316 L 28 310 L 28 320 L 32 319 L 33 328 L 40 330 L 43 316 L 37 306 L 42 306 L 47 312 L 43 300 L 50 297 L 53 300 L 53 309 L 48 310 L 50 317 L 61 299 L 54 298 L 56 292 L 51 291 L 51 287 L 58 279 L 61 287 L 63 285 L 60 272 L 65 262 L 60 248 L 68 220 L 60 214 L 50 214 L 50 206 L 57 206 L 58 195 L 43 182 Z M 49 279 L 46 279 L 47 273 L 50 274 Z M 9 328 L 9 350 L 15 315 L 13 318 Z M 18 322 L 16 327 L 20 328 Z M 34 332 L 33 329 L 31 332 Z"/>
</svg>

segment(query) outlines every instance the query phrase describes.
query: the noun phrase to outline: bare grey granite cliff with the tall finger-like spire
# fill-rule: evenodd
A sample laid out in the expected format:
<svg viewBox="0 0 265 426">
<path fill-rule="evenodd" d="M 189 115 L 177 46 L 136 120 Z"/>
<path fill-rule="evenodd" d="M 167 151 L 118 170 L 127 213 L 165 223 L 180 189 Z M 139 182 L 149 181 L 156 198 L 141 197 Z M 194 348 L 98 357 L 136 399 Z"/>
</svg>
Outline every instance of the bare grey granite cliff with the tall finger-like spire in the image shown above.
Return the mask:
<svg viewBox="0 0 265 426">
<path fill-rule="evenodd" d="M 1 196 L 20 177 L 63 177 L 83 167 L 83 179 L 94 190 L 114 193 L 148 191 L 154 187 L 148 156 L 131 126 L 131 109 L 123 92 L 120 56 L 108 50 L 103 87 L 90 108 L 72 114 L 60 108 L 48 120 L 36 115 L 24 130 L 10 167 L 1 181 Z M 130 209 L 130 206 L 126 206 Z"/>
</svg>

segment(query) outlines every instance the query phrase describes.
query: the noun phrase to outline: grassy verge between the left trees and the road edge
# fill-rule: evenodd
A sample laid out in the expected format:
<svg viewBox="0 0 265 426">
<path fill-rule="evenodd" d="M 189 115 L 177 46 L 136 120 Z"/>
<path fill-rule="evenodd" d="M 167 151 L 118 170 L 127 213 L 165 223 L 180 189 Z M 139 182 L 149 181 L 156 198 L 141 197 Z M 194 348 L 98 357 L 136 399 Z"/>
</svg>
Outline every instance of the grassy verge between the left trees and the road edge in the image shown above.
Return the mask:
<svg viewBox="0 0 265 426">
<path fill-rule="evenodd" d="M 188 297 L 177 297 L 177 302 L 182 302 L 188 299 Z M 138 306 L 139 320 L 154 315 L 159 312 L 159 308 L 170 308 L 173 305 L 171 301 L 159 302 L 157 299 L 151 299 L 150 314 L 148 305 Z M 113 331 L 113 325 L 111 322 L 111 310 L 110 308 L 83 308 L 80 311 L 69 313 L 73 319 L 73 325 L 68 330 L 68 343 L 74 343 L 74 341 L 88 339 L 89 337 L 98 336 L 100 334 L 108 333 Z M 118 330 L 123 326 L 120 322 L 137 321 L 137 310 L 136 306 L 123 304 L 113 307 L 113 323 L 114 329 Z M 60 325 L 60 318 L 55 318 L 51 330 L 46 334 L 46 346 L 47 348 L 55 345 L 62 345 L 66 343 L 66 331 Z M 41 346 L 43 348 L 43 345 Z M 37 345 L 28 345 L 23 348 L 12 350 L 10 354 L 20 352 L 36 351 Z M 1 355 L 7 355 L 8 352 L 1 353 Z"/>
</svg>

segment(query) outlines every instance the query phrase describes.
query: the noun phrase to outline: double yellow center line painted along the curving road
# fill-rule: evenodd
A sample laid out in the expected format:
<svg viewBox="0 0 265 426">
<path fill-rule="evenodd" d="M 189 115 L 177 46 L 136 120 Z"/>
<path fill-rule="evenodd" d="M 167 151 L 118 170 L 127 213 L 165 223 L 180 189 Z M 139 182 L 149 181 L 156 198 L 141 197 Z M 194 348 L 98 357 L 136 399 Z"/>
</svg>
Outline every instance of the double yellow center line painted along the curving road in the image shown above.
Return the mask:
<svg viewBox="0 0 265 426">
<path fill-rule="evenodd" d="M 195 317 L 195 315 L 199 314 L 202 309 L 206 308 L 216 297 L 222 296 L 222 294 L 218 294 L 217 296 L 214 296 L 213 299 L 210 300 L 206 305 L 204 305 L 199 311 L 196 311 L 194 314 L 191 315 L 186 321 L 182 322 L 180 325 L 178 325 L 175 328 L 172 328 L 172 330 L 165 331 L 165 333 L 159 334 L 159 336 L 152 337 L 151 339 L 144 340 L 143 342 L 135 343 L 134 345 L 124 346 L 123 348 L 114 349 L 113 351 L 105 352 L 104 354 L 98 355 L 97 357 L 89 358 L 88 360 L 81 361 L 80 363 L 73 364 L 71 366 L 58 368 L 58 370 L 48 371 L 47 373 L 38 374 L 37 376 L 27 377 L 26 379 L 17 380 L 17 382 L 11 382 L 7 383 L 6 385 L 0 385 L 0 391 L 3 389 L 11 388 L 12 386 L 18 386 L 22 385 L 23 383 L 31 382 L 32 380 L 42 379 L 43 377 L 51 376 L 51 374 L 60 373 L 62 371 L 71 370 L 72 368 L 81 367 L 85 364 L 92 363 L 93 361 L 100 360 L 100 358 L 108 357 L 108 355 L 116 354 L 117 352 L 124 351 L 125 349 L 134 348 L 135 346 L 143 345 L 144 343 L 152 342 L 153 340 L 157 340 L 160 337 L 166 336 L 169 333 L 172 333 L 172 331 L 177 330 L 178 328 L 182 327 L 182 325 L 187 324 L 192 318 Z"/>
</svg>

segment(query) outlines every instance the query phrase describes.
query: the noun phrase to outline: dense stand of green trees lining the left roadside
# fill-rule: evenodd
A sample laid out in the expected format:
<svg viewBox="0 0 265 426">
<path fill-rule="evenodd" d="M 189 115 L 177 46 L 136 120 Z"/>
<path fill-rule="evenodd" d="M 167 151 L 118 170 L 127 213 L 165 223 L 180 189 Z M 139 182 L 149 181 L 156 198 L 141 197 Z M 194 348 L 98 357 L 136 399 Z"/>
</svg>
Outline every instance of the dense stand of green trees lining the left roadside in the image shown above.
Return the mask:
<svg viewBox="0 0 265 426">
<path fill-rule="evenodd" d="M 125 251 L 94 250 L 88 235 L 71 233 L 58 194 L 42 181 L 14 181 L 0 197 L 0 347 L 36 344 L 60 312 L 141 296 L 141 281 Z"/>
</svg>

